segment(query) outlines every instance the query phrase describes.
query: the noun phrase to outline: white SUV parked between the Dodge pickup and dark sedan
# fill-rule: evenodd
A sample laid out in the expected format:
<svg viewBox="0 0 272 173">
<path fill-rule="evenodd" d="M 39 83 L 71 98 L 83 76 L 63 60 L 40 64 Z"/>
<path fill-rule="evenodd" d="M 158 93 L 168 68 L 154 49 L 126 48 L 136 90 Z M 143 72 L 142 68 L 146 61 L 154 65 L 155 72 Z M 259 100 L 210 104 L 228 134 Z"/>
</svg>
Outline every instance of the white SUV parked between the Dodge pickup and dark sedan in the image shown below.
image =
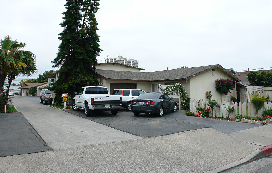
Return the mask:
<svg viewBox="0 0 272 173">
<path fill-rule="evenodd" d="M 131 111 L 131 100 L 136 99 L 142 93 L 145 92 L 140 89 L 115 89 L 112 95 L 121 95 L 122 107 L 126 108 L 127 111 Z"/>
</svg>

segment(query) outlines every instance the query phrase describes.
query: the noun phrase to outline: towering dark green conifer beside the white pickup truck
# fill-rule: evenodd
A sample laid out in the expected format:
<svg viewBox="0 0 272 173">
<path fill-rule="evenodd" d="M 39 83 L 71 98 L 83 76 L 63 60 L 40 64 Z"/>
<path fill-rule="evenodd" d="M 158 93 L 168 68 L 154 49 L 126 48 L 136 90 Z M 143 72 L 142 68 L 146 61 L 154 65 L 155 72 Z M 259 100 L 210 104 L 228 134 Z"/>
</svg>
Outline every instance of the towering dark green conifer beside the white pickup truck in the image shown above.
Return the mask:
<svg viewBox="0 0 272 173">
<path fill-rule="evenodd" d="M 96 31 L 99 0 L 66 0 L 64 27 L 58 37 L 62 42 L 58 47 L 58 54 L 52 67 L 60 67 L 58 80 L 52 89 L 57 95 L 67 92 L 71 96 L 82 86 L 92 86 L 94 80 L 92 64 L 97 62 L 96 57 L 102 51 L 98 44 L 99 36 Z"/>
</svg>

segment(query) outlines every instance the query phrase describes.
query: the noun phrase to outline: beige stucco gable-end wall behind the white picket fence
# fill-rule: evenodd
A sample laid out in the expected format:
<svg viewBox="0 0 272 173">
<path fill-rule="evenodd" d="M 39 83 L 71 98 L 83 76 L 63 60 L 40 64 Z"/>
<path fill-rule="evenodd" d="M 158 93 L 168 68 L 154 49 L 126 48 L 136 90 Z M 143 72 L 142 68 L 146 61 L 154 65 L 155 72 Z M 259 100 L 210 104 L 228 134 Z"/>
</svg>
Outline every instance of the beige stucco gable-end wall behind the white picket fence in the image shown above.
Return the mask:
<svg viewBox="0 0 272 173">
<path fill-rule="evenodd" d="M 212 99 L 218 99 L 221 101 L 230 101 L 230 94 L 225 96 L 224 94 L 220 94 L 216 91 L 215 87 L 215 80 L 224 78 L 224 79 L 231 79 L 227 73 L 222 71 L 220 68 L 215 68 L 215 71 L 208 71 L 206 73 L 200 74 L 199 76 L 193 77 L 190 79 L 190 95 L 189 98 L 193 100 L 200 100 L 207 101 L 206 99 L 206 91 L 212 91 Z M 235 90 L 231 90 L 231 92 L 235 93 Z"/>
</svg>

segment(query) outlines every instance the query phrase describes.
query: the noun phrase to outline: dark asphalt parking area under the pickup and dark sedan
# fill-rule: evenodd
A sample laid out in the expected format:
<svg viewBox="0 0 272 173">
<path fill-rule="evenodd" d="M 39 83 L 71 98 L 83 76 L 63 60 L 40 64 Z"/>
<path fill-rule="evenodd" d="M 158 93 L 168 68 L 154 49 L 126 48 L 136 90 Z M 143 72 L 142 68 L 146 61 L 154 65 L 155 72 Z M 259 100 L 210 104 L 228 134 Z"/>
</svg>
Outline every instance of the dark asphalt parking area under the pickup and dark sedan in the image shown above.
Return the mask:
<svg viewBox="0 0 272 173">
<path fill-rule="evenodd" d="M 135 116 L 132 112 L 126 111 L 125 108 L 119 109 L 117 115 L 112 115 L 110 111 L 104 111 L 96 112 L 90 117 L 85 116 L 84 110 L 73 111 L 72 109 L 67 109 L 65 111 L 141 137 L 162 136 L 200 128 L 215 128 L 228 134 L 262 126 L 261 124 L 191 117 L 184 115 L 185 111 L 180 110 L 177 110 L 175 113 L 171 111 L 165 112 L 162 117 L 157 117 L 152 114 L 140 114 L 139 116 Z"/>
</svg>

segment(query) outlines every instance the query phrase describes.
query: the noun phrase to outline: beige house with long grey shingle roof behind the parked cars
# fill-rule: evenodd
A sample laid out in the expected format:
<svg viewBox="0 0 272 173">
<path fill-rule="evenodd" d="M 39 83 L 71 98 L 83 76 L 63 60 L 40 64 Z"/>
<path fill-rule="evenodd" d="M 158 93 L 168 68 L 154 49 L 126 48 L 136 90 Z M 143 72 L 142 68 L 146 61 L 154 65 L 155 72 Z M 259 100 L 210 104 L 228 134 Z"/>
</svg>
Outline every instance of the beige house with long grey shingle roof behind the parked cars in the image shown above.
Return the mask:
<svg viewBox="0 0 272 173">
<path fill-rule="evenodd" d="M 114 64 L 103 63 L 103 65 L 108 66 L 104 69 L 118 69 L 110 68 Z M 219 64 L 155 72 L 140 72 L 140 69 L 139 71 L 128 71 L 131 70 L 131 67 L 127 67 L 127 71 L 123 71 L 124 68 L 126 67 L 120 67 L 121 70 L 103 70 L 97 67 L 95 74 L 97 80 L 100 81 L 100 86 L 106 86 L 110 93 L 116 88 L 135 88 L 143 89 L 146 92 L 157 92 L 160 85 L 171 85 L 180 81 L 184 85 L 189 98 L 205 100 L 206 91 L 213 92 L 212 99 L 221 99 L 220 93 L 215 89 L 215 80 L 230 78 L 234 81 L 240 81 Z M 223 95 L 222 100 L 230 101 L 230 96 L 233 93 L 235 96 L 235 89 L 227 96 Z"/>
</svg>

